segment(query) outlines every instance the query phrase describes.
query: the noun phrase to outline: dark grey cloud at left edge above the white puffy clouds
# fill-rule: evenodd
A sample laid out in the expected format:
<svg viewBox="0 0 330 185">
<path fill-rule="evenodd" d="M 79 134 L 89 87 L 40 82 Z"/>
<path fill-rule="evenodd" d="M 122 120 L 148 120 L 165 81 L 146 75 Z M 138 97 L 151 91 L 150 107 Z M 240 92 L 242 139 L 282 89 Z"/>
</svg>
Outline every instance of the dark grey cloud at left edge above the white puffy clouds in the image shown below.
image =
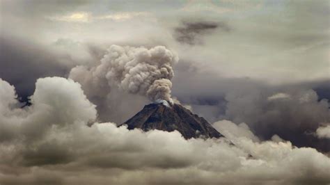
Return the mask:
<svg viewBox="0 0 330 185">
<path fill-rule="evenodd" d="M 68 74 L 70 69 L 57 63 L 56 57 L 33 42 L 0 37 L 0 77 L 15 85 L 24 100 L 32 95 L 36 79 Z"/>
</svg>

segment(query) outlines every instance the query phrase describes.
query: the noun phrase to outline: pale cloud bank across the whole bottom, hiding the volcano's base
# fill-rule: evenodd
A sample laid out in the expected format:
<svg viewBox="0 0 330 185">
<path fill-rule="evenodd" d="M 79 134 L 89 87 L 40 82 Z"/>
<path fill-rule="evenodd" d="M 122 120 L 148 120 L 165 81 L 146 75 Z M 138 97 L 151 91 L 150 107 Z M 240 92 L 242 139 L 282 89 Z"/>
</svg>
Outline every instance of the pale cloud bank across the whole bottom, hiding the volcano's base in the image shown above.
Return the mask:
<svg viewBox="0 0 330 185">
<path fill-rule="evenodd" d="M 259 142 L 246 124 L 223 120 L 226 138 L 185 140 L 178 131 L 129 131 L 88 121 L 95 106 L 81 86 L 38 79 L 29 108 L 0 81 L 1 184 L 327 184 L 330 159 L 288 141 Z M 38 138 L 36 136 L 38 135 Z M 232 145 L 234 143 L 235 145 Z M 184 177 L 184 178 L 182 178 Z"/>
</svg>

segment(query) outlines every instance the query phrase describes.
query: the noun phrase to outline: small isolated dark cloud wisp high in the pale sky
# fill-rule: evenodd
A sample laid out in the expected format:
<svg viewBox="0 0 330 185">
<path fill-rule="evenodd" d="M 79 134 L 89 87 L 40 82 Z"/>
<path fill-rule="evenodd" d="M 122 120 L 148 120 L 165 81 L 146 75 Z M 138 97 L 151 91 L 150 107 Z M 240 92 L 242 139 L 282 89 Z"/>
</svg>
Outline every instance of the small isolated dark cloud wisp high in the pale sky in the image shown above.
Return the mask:
<svg viewBox="0 0 330 185">
<path fill-rule="evenodd" d="M 182 22 L 182 25 L 175 28 L 174 37 L 183 44 L 196 45 L 201 43 L 201 36 L 212 33 L 215 29 L 230 31 L 230 27 L 224 22 Z"/>
</svg>

